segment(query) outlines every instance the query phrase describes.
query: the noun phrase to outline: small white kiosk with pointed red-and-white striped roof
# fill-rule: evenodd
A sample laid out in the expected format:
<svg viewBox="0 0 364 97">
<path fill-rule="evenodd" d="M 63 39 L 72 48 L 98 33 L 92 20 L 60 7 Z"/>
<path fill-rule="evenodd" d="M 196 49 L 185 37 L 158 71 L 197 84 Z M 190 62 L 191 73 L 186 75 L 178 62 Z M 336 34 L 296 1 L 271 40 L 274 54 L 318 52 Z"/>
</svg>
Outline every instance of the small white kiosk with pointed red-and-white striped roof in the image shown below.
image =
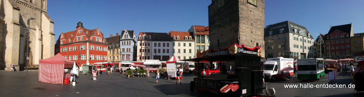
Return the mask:
<svg viewBox="0 0 364 97">
<path fill-rule="evenodd" d="M 169 60 L 167 60 L 167 74 L 168 77 L 174 77 L 177 79 L 177 71 L 179 69 L 180 74 L 183 73 L 183 64 L 185 64 L 184 61 L 180 61 L 177 56 L 172 56 Z M 179 76 L 179 79 L 182 79 L 182 76 Z"/>
</svg>

